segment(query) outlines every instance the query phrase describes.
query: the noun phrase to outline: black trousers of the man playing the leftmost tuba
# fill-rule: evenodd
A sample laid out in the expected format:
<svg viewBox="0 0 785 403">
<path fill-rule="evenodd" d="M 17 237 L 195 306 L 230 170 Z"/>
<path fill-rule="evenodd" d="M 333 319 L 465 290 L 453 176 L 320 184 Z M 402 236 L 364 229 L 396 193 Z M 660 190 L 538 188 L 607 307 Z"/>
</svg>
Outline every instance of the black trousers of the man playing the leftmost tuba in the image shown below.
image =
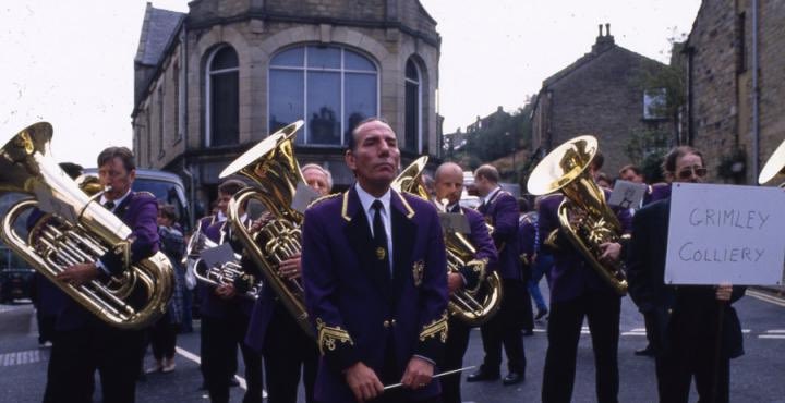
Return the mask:
<svg viewBox="0 0 785 403">
<path fill-rule="evenodd" d="M 96 369 L 104 402 L 134 402 L 142 345 L 142 331 L 111 328 L 98 318 L 56 332 L 44 402 L 93 402 Z"/>
</svg>

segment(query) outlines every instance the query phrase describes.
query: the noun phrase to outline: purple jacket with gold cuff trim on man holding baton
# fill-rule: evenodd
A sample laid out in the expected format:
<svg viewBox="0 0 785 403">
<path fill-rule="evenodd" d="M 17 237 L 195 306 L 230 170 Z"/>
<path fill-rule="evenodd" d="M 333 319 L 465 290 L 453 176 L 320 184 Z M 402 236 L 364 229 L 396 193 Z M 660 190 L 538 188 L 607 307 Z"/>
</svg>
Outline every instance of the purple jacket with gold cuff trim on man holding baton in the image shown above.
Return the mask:
<svg viewBox="0 0 785 403">
<path fill-rule="evenodd" d="M 443 354 L 447 276 L 438 213 L 428 202 L 395 191 L 390 210 L 391 280 L 374 270 L 377 255 L 354 187 L 305 211 L 302 268 L 322 353 L 319 402 L 354 401 L 342 371 L 358 362 L 381 377 L 385 357 L 395 357 L 402 377 L 413 355 L 439 362 Z M 439 384 L 409 393 L 415 400 L 434 396 Z"/>
</svg>

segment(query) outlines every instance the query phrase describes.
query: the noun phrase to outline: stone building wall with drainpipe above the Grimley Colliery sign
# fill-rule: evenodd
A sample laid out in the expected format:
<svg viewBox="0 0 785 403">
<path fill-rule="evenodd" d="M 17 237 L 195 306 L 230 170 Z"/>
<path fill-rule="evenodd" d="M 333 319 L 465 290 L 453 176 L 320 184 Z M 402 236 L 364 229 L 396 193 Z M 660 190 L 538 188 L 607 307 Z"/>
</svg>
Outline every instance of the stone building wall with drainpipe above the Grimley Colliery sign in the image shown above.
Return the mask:
<svg viewBox="0 0 785 403">
<path fill-rule="evenodd" d="M 785 2 L 703 1 L 685 58 L 684 143 L 704 152 L 710 180 L 757 183 L 785 139 Z"/>
</svg>

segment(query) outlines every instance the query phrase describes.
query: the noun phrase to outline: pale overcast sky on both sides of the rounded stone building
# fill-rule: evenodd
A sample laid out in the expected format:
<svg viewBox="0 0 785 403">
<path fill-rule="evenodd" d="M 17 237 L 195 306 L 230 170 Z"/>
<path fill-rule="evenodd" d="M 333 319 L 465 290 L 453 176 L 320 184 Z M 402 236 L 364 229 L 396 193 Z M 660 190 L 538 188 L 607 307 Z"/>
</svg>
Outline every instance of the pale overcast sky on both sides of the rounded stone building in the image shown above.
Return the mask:
<svg viewBox="0 0 785 403">
<path fill-rule="evenodd" d="M 496 107 L 515 110 L 542 81 L 591 49 L 597 24 L 616 44 L 667 62 L 668 38 L 689 33 L 699 0 L 422 0 L 442 35 L 445 132 Z M 0 138 L 55 126 L 58 161 L 95 166 L 131 146 L 133 58 L 144 0 L 27 0 L 0 7 Z M 188 11 L 186 0 L 154 0 Z"/>
</svg>

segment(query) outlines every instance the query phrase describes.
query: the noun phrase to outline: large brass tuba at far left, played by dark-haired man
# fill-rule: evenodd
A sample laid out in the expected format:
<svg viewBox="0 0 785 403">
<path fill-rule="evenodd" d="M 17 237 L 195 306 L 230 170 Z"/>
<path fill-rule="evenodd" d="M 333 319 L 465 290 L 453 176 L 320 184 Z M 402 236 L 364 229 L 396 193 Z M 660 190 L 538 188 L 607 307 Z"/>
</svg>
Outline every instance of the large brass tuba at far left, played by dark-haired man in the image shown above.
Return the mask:
<svg viewBox="0 0 785 403">
<path fill-rule="evenodd" d="M 0 235 L 5 244 L 80 305 L 107 323 L 140 329 L 165 312 L 174 281 L 169 259 L 160 252 L 137 264 L 128 261 L 131 229 L 87 196 L 49 156 L 52 126 L 39 122 L 17 133 L 0 149 L 0 190 L 33 195 L 5 213 Z M 45 207 L 46 206 L 46 207 Z M 17 219 L 35 208 L 43 213 L 24 239 Z M 74 286 L 57 279 L 65 268 L 93 262 L 109 249 L 121 251 L 126 269 L 107 281 Z"/>
</svg>

